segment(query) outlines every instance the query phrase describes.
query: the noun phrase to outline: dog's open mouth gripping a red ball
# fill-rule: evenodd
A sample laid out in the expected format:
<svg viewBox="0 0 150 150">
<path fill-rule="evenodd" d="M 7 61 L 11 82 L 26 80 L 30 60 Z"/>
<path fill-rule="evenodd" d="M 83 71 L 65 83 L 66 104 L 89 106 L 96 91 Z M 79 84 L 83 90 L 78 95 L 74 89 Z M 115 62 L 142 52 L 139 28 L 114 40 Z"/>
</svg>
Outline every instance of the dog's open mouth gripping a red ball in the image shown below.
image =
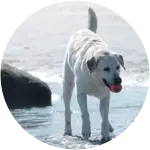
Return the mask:
<svg viewBox="0 0 150 150">
<path fill-rule="evenodd" d="M 119 93 L 122 90 L 121 84 L 110 85 L 107 83 L 105 79 L 103 79 L 103 82 L 109 88 L 109 90 L 113 93 Z"/>
</svg>

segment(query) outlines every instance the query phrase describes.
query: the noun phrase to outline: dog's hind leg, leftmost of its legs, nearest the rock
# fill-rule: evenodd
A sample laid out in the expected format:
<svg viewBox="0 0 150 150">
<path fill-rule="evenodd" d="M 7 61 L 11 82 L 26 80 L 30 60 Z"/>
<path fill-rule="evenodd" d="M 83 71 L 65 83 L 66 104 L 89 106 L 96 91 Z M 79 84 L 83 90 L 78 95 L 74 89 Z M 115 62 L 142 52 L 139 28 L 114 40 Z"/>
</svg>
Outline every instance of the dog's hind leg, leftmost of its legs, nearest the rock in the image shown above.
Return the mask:
<svg viewBox="0 0 150 150">
<path fill-rule="evenodd" d="M 72 135 L 70 102 L 74 87 L 74 75 L 67 62 L 67 56 L 63 65 L 63 101 L 65 106 L 65 132 L 64 135 Z"/>
</svg>

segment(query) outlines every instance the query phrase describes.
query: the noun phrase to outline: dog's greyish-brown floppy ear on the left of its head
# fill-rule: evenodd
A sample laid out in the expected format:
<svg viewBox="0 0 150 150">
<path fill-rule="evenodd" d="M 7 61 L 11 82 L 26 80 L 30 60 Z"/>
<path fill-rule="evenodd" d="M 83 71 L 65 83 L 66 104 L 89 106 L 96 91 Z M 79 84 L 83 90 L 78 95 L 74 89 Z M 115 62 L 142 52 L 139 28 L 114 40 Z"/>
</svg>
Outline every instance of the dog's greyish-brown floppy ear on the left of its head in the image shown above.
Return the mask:
<svg viewBox="0 0 150 150">
<path fill-rule="evenodd" d="M 86 62 L 88 71 L 90 74 L 96 69 L 98 64 L 98 59 L 96 59 L 94 56 L 87 60 Z"/>
</svg>

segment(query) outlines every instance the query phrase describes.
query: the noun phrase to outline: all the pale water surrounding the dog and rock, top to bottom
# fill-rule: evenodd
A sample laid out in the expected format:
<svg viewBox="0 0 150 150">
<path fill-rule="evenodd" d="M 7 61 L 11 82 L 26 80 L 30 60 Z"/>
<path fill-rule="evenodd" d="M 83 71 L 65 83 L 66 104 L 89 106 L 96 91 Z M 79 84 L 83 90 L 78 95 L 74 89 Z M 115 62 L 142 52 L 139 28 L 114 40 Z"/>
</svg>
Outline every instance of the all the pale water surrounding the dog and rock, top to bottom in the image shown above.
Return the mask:
<svg viewBox="0 0 150 150">
<path fill-rule="evenodd" d="M 66 43 L 71 34 L 87 27 L 87 9 L 98 16 L 98 32 L 111 49 L 124 56 L 123 90 L 111 95 L 110 122 L 112 137 L 121 135 L 139 115 L 150 93 L 150 59 L 144 48 L 144 34 L 136 32 L 136 18 L 128 9 L 112 8 L 111 0 L 41 0 L 40 9 L 25 9 L 16 25 L 9 25 L 9 40 L 0 41 L 2 59 L 47 82 L 51 87 L 52 107 L 11 111 L 24 131 L 53 147 L 62 149 L 91 148 L 99 145 L 101 117 L 99 101 L 88 97 L 92 135 L 81 140 L 80 109 L 72 96 L 72 137 L 62 136 L 64 107 L 61 72 Z"/>
</svg>

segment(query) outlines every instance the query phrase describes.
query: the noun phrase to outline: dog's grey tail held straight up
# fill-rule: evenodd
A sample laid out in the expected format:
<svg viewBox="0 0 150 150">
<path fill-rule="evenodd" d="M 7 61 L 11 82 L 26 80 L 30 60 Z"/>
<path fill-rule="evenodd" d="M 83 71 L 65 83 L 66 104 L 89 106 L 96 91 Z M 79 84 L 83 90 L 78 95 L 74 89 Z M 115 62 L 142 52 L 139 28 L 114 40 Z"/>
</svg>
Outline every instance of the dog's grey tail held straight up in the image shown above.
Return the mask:
<svg viewBox="0 0 150 150">
<path fill-rule="evenodd" d="M 91 7 L 88 9 L 88 29 L 95 33 L 97 31 L 97 16 Z"/>
</svg>

